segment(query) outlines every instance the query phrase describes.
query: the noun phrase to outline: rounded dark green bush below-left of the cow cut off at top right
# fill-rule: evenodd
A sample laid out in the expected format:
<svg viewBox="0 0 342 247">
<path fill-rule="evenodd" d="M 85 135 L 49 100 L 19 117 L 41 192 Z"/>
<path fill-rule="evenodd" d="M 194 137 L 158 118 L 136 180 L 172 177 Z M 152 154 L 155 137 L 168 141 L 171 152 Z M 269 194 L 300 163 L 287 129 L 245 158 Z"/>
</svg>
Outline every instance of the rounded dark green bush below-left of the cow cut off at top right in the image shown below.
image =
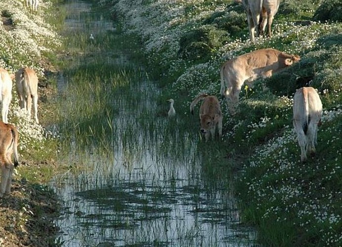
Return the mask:
<svg viewBox="0 0 342 247">
<path fill-rule="evenodd" d="M 213 25 L 205 25 L 185 33 L 181 37 L 178 52 L 183 59 L 204 60 L 224 41 L 228 41 L 226 31 L 219 30 Z"/>
</svg>

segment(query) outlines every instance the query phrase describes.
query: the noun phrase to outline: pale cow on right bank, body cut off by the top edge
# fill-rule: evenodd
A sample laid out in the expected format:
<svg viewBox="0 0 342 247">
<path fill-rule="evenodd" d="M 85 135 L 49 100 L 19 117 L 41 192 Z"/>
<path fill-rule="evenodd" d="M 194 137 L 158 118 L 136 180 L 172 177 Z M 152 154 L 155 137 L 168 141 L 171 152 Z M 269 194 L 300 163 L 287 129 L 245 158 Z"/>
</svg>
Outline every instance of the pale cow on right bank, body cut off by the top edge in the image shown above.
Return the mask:
<svg viewBox="0 0 342 247">
<path fill-rule="evenodd" d="M 267 21 L 268 36 L 271 37 L 271 25 L 280 0 L 235 0 L 235 2 L 242 3 L 245 9 L 251 42 L 254 42 L 255 31 L 257 37 L 260 34 L 264 35 Z"/>
</svg>

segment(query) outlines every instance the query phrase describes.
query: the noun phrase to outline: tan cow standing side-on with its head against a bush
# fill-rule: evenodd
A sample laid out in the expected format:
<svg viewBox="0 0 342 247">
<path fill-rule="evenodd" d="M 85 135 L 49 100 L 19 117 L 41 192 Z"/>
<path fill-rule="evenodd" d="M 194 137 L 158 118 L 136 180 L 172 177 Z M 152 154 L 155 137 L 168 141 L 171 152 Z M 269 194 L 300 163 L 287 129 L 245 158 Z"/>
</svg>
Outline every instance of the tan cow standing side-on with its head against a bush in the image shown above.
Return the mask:
<svg viewBox="0 0 342 247">
<path fill-rule="evenodd" d="M 300 59 L 299 55 L 289 55 L 276 49 L 266 48 L 246 53 L 225 62 L 220 69 L 221 94 L 226 97 L 230 113 L 235 113 L 239 93 L 244 83 L 253 87 L 252 82 L 257 78 L 270 77 L 273 73 L 298 62 Z"/>
</svg>

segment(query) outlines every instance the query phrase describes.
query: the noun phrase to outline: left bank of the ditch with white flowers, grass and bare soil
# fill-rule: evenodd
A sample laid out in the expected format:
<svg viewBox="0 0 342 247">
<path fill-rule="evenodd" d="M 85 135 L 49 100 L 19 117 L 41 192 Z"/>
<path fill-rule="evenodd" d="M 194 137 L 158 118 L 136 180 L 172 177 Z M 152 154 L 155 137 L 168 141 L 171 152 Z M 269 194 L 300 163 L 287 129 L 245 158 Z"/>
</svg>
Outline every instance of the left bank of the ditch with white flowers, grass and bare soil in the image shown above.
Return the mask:
<svg viewBox="0 0 342 247">
<path fill-rule="evenodd" d="M 56 164 L 59 133 L 51 121 L 56 54 L 63 42 L 57 30 L 64 15 L 57 4 L 58 0 L 41 1 L 37 12 L 26 7 L 25 1 L 2 0 L 0 4 L 0 67 L 15 73 L 29 66 L 37 72 L 40 122 L 27 119 L 20 110 L 13 83 L 9 122 L 19 130 L 20 166 L 9 198 L 0 201 L 1 246 L 51 246 L 58 232 L 52 219 L 58 215 L 59 202 L 46 186 L 64 169 Z"/>
</svg>

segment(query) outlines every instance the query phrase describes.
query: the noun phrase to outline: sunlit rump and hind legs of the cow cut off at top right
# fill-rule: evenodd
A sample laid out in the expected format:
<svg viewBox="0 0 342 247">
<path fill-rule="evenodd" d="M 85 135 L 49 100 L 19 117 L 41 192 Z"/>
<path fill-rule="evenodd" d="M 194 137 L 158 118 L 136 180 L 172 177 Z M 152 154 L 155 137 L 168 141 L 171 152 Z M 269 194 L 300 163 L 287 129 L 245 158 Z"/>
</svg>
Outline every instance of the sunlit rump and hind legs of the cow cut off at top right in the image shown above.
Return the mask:
<svg viewBox="0 0 342 247">
<path fill-rule="evenodd" d="M 274 15 L 278 12 L 280 0 L 263 0 L 263 8 L 261 10 L 262 20 L 260 22 L 260 35 L 265 34 L 266 24 L 268 29 L 268 37 L 272 36 L 271 26 Z"/>
</svg>

